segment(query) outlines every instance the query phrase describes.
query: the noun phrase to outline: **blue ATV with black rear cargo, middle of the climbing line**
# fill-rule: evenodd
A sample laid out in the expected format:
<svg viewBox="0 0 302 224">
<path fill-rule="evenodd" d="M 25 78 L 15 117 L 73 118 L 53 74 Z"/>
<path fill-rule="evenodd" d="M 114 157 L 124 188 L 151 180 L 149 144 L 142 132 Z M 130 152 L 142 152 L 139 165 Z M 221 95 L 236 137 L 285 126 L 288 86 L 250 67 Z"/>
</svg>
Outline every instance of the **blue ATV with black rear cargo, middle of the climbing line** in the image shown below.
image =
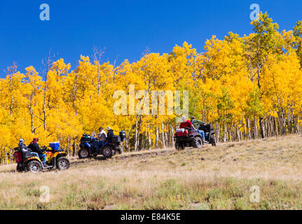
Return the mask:
<svg viewBox="0 0 302 224">
<path fill-rule="evenodd" d="M 93 134 L 92 134 L 93 135 Z M 92 156 L 103 155 L 105 159 L 111 158 L 116 153 L 123 153 L 121 142 L 125 140 L 125 132 L 121 131 L 119 136 L 114 135 L 112 142 L 97 141 L 95 137 L 89 134 L 83 134 L 81 137 L 80 150 L 78 151 L 78 158 L 85 159 Z M 97 152 L 97 144 L 99 151 Z"/>
</svg>

